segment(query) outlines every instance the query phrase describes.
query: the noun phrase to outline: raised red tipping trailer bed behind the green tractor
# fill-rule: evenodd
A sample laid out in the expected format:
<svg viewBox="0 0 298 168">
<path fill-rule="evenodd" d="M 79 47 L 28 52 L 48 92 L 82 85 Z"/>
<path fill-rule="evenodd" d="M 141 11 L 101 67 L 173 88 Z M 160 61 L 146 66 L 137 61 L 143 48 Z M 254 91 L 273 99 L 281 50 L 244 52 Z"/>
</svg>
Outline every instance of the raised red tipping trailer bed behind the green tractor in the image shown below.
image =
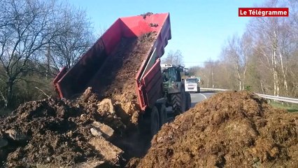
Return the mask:
<svg viewBox="0 0 298 168">
<path fill-rule="evenodd" d="M 145 59 L 139 60 L 142 64 L 135 76 L 135 90 L 143 111 L 154 106 L 162 94 L 159 58 L 171 39 L 169 13 L 137 15 L 116 20 L 71 69 L 64 68 L 57 74 L 53 83 L 59 97 L 71 98 L 84 92 L 87 87 L 99 87 L 105 80 L 104 76 L 100 76 L 101 71 L 108 60 L 115 57 L 115 50 L 122 39 L 137 38 L 153 31 L 157 37 Z M 92 80 L 96 82 L 91 82 Z"/>
</svg>

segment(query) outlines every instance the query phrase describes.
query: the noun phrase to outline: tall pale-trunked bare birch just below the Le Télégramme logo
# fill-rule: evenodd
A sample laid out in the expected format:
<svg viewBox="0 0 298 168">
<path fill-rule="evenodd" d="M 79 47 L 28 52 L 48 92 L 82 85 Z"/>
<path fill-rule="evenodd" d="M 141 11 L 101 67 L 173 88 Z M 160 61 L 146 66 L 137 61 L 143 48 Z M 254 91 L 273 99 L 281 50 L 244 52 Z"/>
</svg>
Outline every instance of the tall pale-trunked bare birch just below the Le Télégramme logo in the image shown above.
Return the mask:
<svg viewBox="0 0 298 168">
<path fill-rule="evenodd" d="M 278 1 L 269 1 L 266 5 L 277 7 Z M 282 88 L 288 92 L 285 59 L 290 34 L 286 30 L 285 19 L 254 18 L 248 27 L 255 41 L 254 49 L 260 53 L 260 61 L 271 72 L 274 95 L 279 96 Z"/>
</svg>

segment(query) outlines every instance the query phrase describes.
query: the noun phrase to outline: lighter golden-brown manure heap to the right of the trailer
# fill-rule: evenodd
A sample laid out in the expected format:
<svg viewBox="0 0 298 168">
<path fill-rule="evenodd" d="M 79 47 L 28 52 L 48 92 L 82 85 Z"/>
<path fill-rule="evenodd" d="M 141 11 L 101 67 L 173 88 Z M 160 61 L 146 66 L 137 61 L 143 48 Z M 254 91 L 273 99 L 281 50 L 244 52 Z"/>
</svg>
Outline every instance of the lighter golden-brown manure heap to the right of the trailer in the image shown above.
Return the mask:
<svg viewBox="0 0 298 168">
<path fill-rule="evenodd" d="M 164 125 L 137 167 L 297 167 L 297 125 L 253 93 L 221 92 Z"/>
</svg>

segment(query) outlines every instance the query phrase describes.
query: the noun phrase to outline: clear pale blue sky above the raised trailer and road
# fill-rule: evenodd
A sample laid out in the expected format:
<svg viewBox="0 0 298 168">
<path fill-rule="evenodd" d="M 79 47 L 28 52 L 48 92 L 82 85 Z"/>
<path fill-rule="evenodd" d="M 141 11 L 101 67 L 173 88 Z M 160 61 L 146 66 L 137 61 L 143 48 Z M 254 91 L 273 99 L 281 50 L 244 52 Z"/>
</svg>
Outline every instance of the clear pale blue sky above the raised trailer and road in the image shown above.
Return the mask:
<svg viewBox="0 0 298 168">
<path fill-rule="evenodd" d="M 180 50 L 185 67 L 218 59 L 227 38 L 246 31 L 250 18 L 239 17 L 238 8 L 253 7 L 264 0 L 69 0 L 86 10 L 94 27 L 101 34 L 118 18 L 147 12 L 170 13 L 171 40 L 163 57 L 170 50 Z"/>
</svg>

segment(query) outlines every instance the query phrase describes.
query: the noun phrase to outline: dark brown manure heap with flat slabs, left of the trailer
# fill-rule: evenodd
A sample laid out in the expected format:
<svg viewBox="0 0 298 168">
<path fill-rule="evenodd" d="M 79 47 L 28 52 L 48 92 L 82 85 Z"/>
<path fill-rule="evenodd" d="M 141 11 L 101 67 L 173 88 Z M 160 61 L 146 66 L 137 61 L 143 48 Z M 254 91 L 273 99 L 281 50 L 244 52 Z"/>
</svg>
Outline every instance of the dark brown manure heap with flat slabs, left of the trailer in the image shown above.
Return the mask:
<svg viewBox="0 0 298 168">
<path fill-rule="evenodd" d="M 126 125 L 115 113 L 98 111 L 97 104 L 91 88 L 72 102 L 21 104 L 15 115 L 0 120 L 0 167 L 120 166 L 123 151 L 110 141 L 116 134 L 120 140 Z"/>
</svg>

